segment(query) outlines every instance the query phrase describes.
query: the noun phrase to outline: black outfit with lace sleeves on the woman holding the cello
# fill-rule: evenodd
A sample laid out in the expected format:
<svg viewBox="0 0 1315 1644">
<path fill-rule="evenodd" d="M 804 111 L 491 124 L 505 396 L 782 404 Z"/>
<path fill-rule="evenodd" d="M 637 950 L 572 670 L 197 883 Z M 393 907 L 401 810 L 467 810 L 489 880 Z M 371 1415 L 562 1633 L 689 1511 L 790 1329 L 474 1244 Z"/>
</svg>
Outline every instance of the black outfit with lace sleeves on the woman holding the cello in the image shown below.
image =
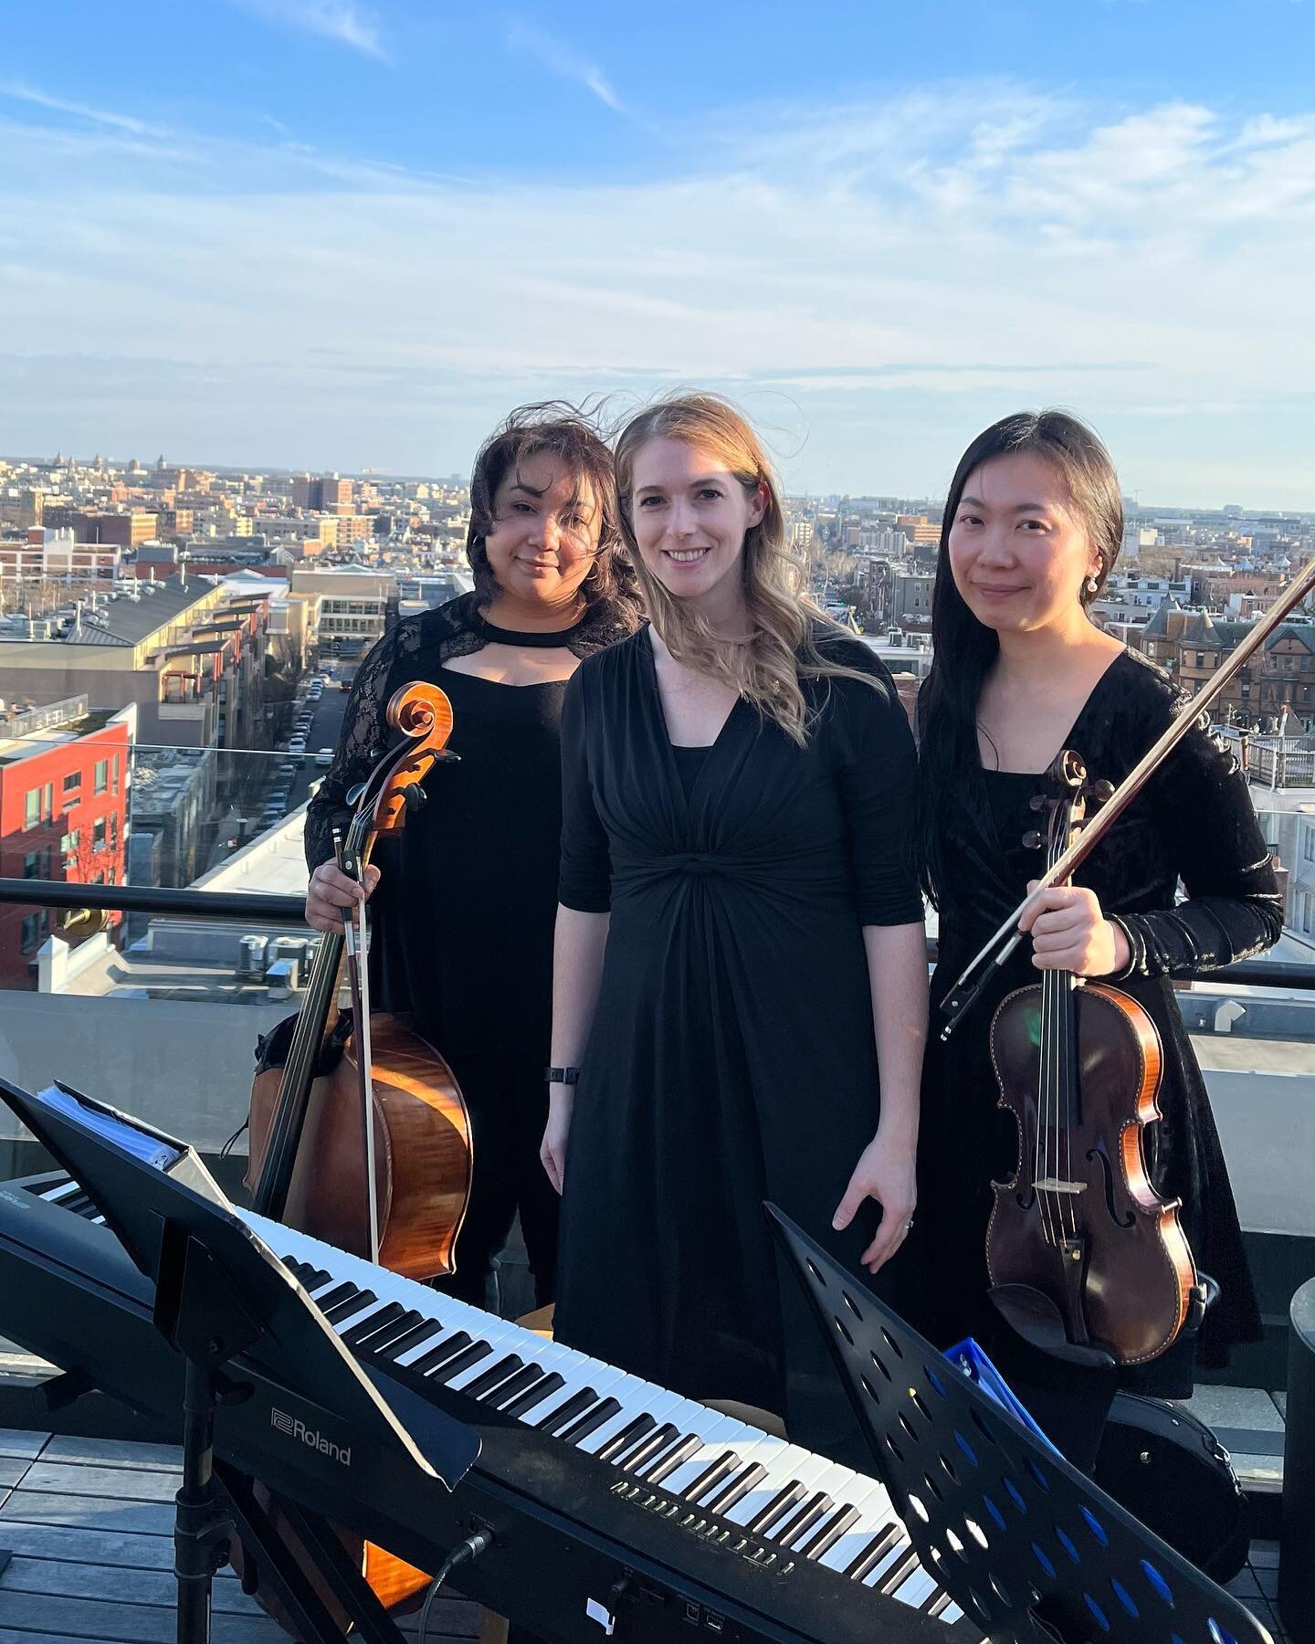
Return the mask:
<svg viewBox="0 0 1315 1644">
<path fill-rule="evenodd" d="M 592 616 L 564 633 L 511 633 L 483 621 L 473 595 L 401 621 L 365 658 L 344 735 L 306 817 L 306 860 L 334 855 L 332 830 L 362 781 L 386 725 L 393 692 L 416 679 L 452 702 L 449 748 L 424 781 L 427 804 L 396 840 L 381 840 L 370 899 L 371 995 L 378 1009 L 409 1011 L 447 1057 L 470 1110 L 475 1175 L 457 1241 L 457 1274 L 444 1281 L 483 1305 L 493 1256 L 519 1210 L 541 1302 L 552 1299 L 557 1195 L 539 1164 L 547 1115 L 542 1078 L 552 1009 L 557 911 L 561 751 L 565 681 L 503 686 L 447 667 L 490 641 L 590 654 L 618 633 Z"/>
</svg>

